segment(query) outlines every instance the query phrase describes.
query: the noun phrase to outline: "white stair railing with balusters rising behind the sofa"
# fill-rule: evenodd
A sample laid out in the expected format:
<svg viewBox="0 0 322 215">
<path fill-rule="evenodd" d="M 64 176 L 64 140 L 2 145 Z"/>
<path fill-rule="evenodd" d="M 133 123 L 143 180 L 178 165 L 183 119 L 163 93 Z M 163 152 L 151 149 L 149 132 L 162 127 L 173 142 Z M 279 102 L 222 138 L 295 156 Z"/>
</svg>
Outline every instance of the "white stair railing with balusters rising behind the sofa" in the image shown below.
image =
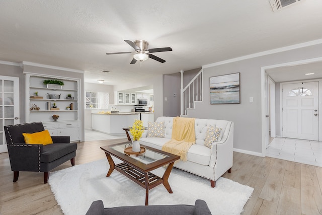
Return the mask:
<svg viewBox="0 0 322 215">
<path fill-rule="evenodd" d="M 194 109 L 195 102 L 202 101 L 202 87 L 201 69 L 185 88 L 181 87 L 181 116 L 187 116 L 187 109 Z"/>
</svg>

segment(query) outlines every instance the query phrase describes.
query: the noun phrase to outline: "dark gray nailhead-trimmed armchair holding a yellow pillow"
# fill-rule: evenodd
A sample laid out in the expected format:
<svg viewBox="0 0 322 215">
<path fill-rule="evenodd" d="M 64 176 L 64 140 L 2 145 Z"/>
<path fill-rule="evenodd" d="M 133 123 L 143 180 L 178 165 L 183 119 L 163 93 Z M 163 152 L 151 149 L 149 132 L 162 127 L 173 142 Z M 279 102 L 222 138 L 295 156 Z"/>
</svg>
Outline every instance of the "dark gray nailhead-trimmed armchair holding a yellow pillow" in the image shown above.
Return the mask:
<svg viewBox="0 0 322 215">
<path fill-rule="evenodd" d="M 22 133 L 44 130 L 42 122 L 6 125 L 5 134 L 14 182 L 20 171 L 44 172 L 44 183 L 49 179 L 49 171 L 70 160 L 75 164 L 77 144 L 70 143 L 69 136 L 51 136 L 53 144 L 25 144 Z"/>
</svg>

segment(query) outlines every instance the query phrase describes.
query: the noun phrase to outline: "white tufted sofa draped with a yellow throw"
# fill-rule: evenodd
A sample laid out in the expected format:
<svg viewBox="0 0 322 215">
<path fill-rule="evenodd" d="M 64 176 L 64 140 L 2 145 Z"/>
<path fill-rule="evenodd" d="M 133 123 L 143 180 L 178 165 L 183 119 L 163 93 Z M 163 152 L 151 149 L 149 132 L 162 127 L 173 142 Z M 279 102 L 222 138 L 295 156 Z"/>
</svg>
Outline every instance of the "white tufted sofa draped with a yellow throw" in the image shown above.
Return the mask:
<svg viewBox="0 0 322 215">
<path fill-rule="evenodd" d="M 147 130 L 140 138 L 140 144 L 162 149 L 162 146 L 171 139 L 174 117 L 158 117 L 156 122 L 165 122 L 165 138 L 147 137 Z M 204 146 L 208 125 L 222 128 L 222 138 L 212 144 L 211 149 Z M 233 148 L 233 122 L 215 119 L 195 120 L 196 144 L 188 151 L 188 161 L 179 160 L 174 166 L 187 172 L 207 178 L 211 186 L 215 187 L 216 180 L 226 171 L 231 172 Z"/>
</svg>

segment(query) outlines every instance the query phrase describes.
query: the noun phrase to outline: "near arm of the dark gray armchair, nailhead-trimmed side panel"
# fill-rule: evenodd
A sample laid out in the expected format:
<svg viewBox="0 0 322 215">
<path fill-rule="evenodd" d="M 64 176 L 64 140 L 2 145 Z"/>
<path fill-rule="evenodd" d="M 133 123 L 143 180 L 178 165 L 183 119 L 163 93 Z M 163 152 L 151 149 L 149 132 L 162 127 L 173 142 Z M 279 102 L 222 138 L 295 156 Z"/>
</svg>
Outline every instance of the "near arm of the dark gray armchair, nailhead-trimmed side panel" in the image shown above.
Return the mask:
<svg viewBox="0 0 322 215">
<path fill-rule="evenodd" d="M 9 144 L 7 147 L 12 171 L 40 172 L 39 163 L 43 145 Z"/>
</svg>

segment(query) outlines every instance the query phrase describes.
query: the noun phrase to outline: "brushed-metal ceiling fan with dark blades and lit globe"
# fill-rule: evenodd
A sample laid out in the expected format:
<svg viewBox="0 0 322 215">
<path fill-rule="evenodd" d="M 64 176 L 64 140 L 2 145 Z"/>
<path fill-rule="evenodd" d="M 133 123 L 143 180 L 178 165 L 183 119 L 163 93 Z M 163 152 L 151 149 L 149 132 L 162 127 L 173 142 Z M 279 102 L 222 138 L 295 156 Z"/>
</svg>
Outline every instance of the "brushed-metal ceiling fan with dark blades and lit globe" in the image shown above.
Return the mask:
<svg viewBox="0 0 322 215">
<path fill-rule="evenodd" d="M 159 61 L 159 62 L 166 62 L 166 60 L 159 58 L 151 53 L 155 52 L 162 52 L 162 51 L 172 51 L 172 48 L 170 47 L 164 47 L 164 48 L 150 48 L 148 49 L 147 46 L 149 45 L 148 42 L 145 40 L 135 40 L 134 42 L 130 40 L 124 40 L 127 44 L 132 46 L 134 48 L 135 52 L 127 51 L 127 52 L 113 52 L 113 53 L 106 53 L 106 54 L 128 54 L 132 53 L 133 60 L 130 62 L 130 64 L 136 63 L 136 61 L 144 61 L 147 58 L 151 58 L 153 60 Z"/>
</svg>

